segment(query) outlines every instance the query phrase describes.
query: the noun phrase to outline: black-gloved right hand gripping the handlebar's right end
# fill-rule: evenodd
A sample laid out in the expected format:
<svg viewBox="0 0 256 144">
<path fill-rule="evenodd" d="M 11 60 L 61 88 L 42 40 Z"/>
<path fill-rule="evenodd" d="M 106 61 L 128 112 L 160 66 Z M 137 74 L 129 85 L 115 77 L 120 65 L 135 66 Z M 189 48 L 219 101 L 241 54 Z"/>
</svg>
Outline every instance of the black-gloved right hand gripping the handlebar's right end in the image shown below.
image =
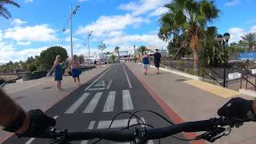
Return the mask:
<svg viewBox="0 0 256 144">
<path fill-rule="evenodd" d="M 256 121 L 252 100 L 243 98 L 231 98 L 218 110 L 218 115 L 226 118 L 234 118 L 241 122 Z"/>
</svg>

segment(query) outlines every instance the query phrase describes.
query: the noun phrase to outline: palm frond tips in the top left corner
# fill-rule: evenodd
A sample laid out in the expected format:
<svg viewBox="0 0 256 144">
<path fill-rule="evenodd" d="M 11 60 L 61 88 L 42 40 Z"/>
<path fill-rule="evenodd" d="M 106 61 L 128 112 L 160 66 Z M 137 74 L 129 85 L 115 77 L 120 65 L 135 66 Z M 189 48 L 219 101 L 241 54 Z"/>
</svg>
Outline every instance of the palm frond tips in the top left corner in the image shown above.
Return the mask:
<svg viewBox="0 0 256 144">
<path fill-rule="evenodd" d="M 12 0 L 0 0 L 0 16 L 3 18 L 11 18 L 10 12 L 6 9 L 5 5 L 10 4 L 12 6 L 20 7 L 17 2 Z"/>
</svg>

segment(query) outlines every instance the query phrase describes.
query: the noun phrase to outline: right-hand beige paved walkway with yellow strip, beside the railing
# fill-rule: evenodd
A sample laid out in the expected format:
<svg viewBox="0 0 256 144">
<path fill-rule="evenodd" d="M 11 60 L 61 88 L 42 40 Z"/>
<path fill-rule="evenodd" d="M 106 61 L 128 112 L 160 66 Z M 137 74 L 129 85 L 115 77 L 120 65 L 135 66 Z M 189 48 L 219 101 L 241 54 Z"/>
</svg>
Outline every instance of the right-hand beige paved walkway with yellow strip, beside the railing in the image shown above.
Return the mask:
<svg viewBox="0 0 256 144">
<path fill-rule="evenodd" d="M 204 86 L 204 82 L 193 82 L 190 78 L 185 78 L 177 74 L 161 71 L 159 75 L 154 74 L 155 69 L 150 68 L 149 74 L 144 75 L 142 65 L 137 63 L 126 63 L 132 72 L 142 81 L 146 82 L 168 105 L 184 120 L 197 121 L 206 118 L 217 117 L 217 110 L 231 97 L 223 98 L 221 89 L 214 92 L 210 90 L 209 84 Z M 231 94 L 232 97 L 242 97 L 253 99 L 246 95 L 239 95 L 235 91 L 223 92 Z M 233 94 L 233 95 L 232 95 Z M 256 143 L 255 137 L 256 123 L 248 122 L 241 128 L 234 128 L 226 138 L 218 140 L 220 144 L 226 143 Z"/>
</svg>

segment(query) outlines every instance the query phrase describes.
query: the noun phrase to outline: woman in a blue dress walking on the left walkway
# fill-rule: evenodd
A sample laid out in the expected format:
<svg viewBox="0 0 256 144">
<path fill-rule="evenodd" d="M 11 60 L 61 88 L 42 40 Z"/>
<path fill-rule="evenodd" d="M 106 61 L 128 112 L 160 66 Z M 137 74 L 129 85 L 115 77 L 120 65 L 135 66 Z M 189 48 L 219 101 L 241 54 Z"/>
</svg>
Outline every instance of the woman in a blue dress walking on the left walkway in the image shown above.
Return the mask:
<svg viewBox="0 0 256 144">
<path fill-rule="evenodd" d="M 62 90 L 62 66 L 61 66 L 61 56 L 57 55 L 54 61 L 54 66 L 50 70 L 50 74 L 54 71 L 54 81 L 56 81 L 56 86 L 58 90 Z"/>
</svg>

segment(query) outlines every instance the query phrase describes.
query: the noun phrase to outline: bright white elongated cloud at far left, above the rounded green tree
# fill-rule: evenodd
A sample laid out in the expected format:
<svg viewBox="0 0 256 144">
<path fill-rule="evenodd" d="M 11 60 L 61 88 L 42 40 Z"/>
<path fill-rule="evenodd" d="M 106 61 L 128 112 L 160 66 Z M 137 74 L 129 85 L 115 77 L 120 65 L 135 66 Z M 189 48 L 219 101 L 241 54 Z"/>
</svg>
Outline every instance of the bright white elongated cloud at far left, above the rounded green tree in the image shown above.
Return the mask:
<svg viewBox="0 0 256 144">
<path fill-rule="evenodd" d="M 4 38 L 12 38 L 16 41 L 34 41 L 34 42 L 49 42 L 57 41 L 55 37 L 55 30 L 51 29 L 48 25 L 37 26 L 15 26 L 14 28 L 7 29 Z"/>
</svg>

